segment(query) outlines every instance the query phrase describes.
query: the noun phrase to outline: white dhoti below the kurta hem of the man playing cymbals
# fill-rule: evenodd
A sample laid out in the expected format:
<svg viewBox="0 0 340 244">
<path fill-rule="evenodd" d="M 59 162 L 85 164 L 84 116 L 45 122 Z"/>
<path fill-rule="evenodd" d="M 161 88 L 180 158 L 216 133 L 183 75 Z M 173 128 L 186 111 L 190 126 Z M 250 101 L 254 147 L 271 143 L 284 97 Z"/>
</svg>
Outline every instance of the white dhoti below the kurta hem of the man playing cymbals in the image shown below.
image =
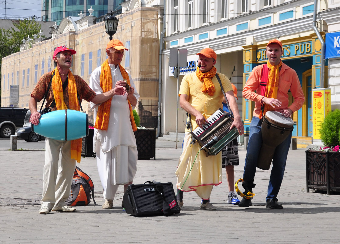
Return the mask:
<svg viewBox="0 0 340 244">
<path fill-rule="evenodd" d="M 97 167 L 103 186 L 103 196 L 114 200 L 119 185 L 132 182 L 137 171 L 137 148 L 116 146 L 103 153 L 100 143 L 96 143 Z"/>
</svg>

